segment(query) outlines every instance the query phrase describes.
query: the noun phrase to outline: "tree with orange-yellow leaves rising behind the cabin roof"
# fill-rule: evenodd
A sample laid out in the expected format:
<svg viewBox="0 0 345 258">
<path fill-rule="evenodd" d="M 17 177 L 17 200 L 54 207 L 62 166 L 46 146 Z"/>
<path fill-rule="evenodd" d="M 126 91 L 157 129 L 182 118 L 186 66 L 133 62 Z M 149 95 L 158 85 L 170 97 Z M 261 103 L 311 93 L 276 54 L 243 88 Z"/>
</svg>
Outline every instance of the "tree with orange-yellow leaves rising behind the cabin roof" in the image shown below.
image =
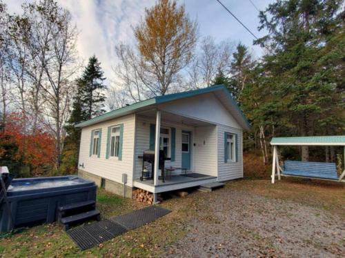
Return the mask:
<svg viewBox="0 0 345 258">
<path fill-rule="evenodd" d="M 144 70 L 141 80 L 153 95 L 165 95 L 193 57 L 197 23 L 176 1 L 158 0 L 145 12 L 134 30 Z"/>
</svg>

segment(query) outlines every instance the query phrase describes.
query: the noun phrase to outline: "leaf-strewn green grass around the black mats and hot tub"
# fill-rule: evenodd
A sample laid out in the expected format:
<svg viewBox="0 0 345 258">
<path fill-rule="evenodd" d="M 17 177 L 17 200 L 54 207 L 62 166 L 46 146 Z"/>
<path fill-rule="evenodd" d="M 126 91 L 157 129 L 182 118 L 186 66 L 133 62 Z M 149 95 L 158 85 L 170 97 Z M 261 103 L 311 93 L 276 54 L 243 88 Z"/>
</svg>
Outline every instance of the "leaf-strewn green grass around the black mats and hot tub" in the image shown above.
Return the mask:
<svg viewBox="0 0 345 258">
<path fill-rule="evenodd" d="M 181 199 L 176 203 L 164 202 L 164 206 L 169 205 L 176 210 L 185 207 L 183 203 L 181 205 Z M 97 190 L 97 209 L 102 218 L 142 207 L 143 204 L 135 200 Z M 164 253 L 165 246 L 183 237 L 182 217 L 186 217 L 186 212 L 167 215 L 149 226 L 130 230 L 85 251 L 79 250 L 59 224 L 35 226 L 0 239 L 0 257 L 128 257 L 128 253 L 135 257 L 159 256 Z"/>
</svg>

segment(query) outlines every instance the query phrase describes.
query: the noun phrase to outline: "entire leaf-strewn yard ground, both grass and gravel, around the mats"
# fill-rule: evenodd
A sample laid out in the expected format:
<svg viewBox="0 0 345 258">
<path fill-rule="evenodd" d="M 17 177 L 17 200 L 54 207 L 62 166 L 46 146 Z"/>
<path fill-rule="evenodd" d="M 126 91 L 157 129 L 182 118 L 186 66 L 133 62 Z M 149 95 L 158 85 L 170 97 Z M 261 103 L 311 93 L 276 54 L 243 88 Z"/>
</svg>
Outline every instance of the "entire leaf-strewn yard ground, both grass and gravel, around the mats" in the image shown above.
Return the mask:
<svg viewBox="0 0 345 258">
<path fill-rule="evenodd" d="M 345 186 L 242 179 L 162 204 L 152 224 L 80 251 L 58 224 L 0 239 L 0 257 L 345 257 Z M 99 190 L 103 218 L 143 205 Z"/>
</svg>

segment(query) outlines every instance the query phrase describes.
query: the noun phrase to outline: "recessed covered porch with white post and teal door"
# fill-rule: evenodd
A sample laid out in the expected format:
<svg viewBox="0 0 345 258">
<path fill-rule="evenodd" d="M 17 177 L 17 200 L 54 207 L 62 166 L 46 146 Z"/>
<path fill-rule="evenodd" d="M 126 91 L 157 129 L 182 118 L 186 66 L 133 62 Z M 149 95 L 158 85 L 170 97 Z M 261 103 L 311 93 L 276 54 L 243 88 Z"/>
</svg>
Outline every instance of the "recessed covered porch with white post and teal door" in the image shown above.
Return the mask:
<svg viewBox="0 0 345 258">
<path fill-rule="evenodd" d="M 136 142 L 141 148 L 136 148 L 133 186 L 157 194 L 217 181 L 217 127 L 214 123 L 159 109 L 138 112 L 136 120 Z M 141 180 L 143 152 L 148 149 L 154 150 L 155 157 L 152 169 L 151 164 L 148 169 L 158 172 L 153 172 L 152 178 Z M 161 150 L 167 156 L 164 180 L 159 164 Z"/>
</svg>

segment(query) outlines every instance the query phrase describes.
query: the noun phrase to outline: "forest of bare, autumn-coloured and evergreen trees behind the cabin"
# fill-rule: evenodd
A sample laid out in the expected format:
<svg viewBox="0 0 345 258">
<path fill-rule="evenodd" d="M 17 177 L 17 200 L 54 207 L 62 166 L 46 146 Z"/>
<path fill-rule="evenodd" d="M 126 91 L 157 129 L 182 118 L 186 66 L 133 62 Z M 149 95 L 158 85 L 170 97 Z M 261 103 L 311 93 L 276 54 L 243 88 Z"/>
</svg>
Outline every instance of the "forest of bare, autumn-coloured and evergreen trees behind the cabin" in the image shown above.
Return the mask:
<svg viewBox="0 0 345 258">
<path fill-rule="evenodd" d="M 10 14 L 0 0 L 0 166 L 19 177 L 77 170 L 76 123 L 157 95 L 224 84 L 251 123 L 244 150 L 266 166 L 274 136 L 344 135 L 345 11 L 339 0 L 285 0 L 259 12 L 256 58 L 237 39 L 200 37 L 183 5 L 158 0 L 119 42 L 115 78 L 91 56 L 83 67 L 77 28 L 53 0 Z M 224 29 L 224 33 L 226 30 Z M 338 161 L 334 147 L 284 148 L 290 159 Z M 254 157 L 254 156 L 251 156 Z"/>
</svg>

